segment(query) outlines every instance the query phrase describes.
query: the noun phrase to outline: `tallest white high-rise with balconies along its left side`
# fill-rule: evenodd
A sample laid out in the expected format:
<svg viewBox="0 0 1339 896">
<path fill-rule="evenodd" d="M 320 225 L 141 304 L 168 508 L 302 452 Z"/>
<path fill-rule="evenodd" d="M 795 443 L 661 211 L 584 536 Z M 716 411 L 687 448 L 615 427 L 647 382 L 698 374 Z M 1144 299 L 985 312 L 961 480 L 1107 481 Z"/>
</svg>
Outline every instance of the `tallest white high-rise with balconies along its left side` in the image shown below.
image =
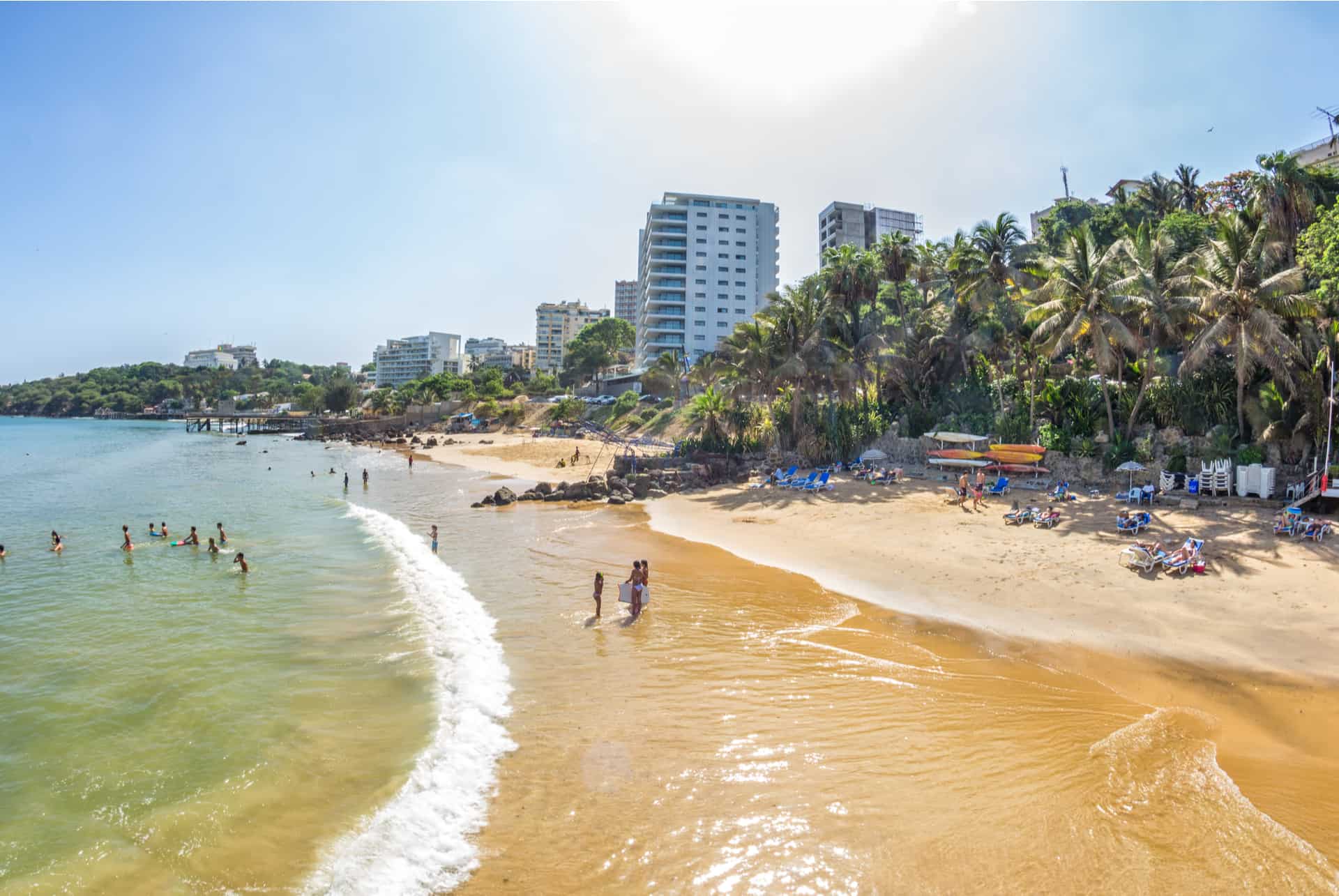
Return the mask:
<svg viewBox="0 0 1339 896">
<path fill-rule="evenodd" d="M 734 196 L 665 193 L 637 234 L 637 351 L 691 360 L 715 351 L 777 289 L 779 212 Z"/>
</svg>

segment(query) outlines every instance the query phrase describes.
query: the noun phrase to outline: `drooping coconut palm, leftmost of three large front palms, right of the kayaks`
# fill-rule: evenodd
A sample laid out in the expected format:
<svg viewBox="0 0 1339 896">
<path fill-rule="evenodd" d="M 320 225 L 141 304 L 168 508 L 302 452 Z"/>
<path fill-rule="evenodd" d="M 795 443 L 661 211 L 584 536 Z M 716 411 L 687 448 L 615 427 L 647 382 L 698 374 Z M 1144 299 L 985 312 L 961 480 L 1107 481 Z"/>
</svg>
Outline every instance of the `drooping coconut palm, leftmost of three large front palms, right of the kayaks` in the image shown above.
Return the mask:
<svg viewBox="0 0 1339 896">
<path fill-rule="evenodd" d="M 1121 320 L 1127 300 L 1118 295 L 1114 284 L 1121 275 L 1117 245 L 1098 252 L 1093 232 L 1085 224 L 1071 230 L 1063 258 L 1048 258 L 1048 277 L 1035 297 L 1040 300 L 1027 315 L 1027 323 L 1036 324 L 1032 339 L 1050 351 L 1051 358 L 1067 350 L 1086 350 L 1097 363 L 1106 402 L 1107 435 L 1115 438 L 1115 415 L 1111 413 L 1111 392 L 1107 376 L 1117 374 L 1122 363 L 1119 348 L 1135 351 L 1139 340 Z"/>
</svg>

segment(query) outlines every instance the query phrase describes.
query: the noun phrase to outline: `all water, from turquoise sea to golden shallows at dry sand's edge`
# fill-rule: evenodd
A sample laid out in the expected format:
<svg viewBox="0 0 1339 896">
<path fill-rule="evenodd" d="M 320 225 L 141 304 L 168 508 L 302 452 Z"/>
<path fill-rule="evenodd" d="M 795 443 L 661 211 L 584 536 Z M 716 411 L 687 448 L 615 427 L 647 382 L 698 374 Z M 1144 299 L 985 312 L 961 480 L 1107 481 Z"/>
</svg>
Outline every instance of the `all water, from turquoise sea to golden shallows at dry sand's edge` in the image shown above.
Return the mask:
<svg viewBox="0 0 1339 896">
<path fill-rule="evenodd" d="M 0 463 L 5 891 L 1339 892 L 1332 688 L 470 510 L 503 481 L 392 453 L 0 419 Z M 220 516 L 246 577 L 116 549 Z"/>
</svg>

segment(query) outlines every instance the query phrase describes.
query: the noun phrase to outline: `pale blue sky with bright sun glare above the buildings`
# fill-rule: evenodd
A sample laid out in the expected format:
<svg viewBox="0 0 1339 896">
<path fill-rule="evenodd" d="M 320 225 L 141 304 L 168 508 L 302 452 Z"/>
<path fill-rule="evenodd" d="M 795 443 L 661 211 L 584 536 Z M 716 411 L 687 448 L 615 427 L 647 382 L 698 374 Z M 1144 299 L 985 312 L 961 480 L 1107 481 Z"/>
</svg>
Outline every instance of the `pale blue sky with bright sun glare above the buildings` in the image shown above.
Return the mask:
<svg viewBox="0 0 1339 896">
<path fill-rule="evenodd" d="M 664 192 L 927 236 L 1328 135 L 1327 4 L 0 4 L 0 383 L 613 305 Z M 1212 129 L 1212 130 L 1210 130 Z"/>
</svg>

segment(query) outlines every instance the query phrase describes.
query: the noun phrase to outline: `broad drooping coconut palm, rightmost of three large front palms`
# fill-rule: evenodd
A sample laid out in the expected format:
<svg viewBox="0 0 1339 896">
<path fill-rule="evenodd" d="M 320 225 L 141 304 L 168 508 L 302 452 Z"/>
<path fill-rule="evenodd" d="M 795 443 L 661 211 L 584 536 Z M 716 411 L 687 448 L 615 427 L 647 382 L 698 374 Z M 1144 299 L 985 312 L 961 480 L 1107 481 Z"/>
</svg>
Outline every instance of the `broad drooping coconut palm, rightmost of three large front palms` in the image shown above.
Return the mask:
<svg viewBox="0 0 1339 896">
<path fill-rule="evenodd" d="M 1271 273 L 1265 225 L 1252 228 L 1233 214 L 1218 225 L 1218 238 L 1202 249 L 1200 265 L 1186 285 L 1200 296 L 1200 315 L 1209 320 L 1181 362 L 1181 374 L 1201 367 L 1217 350 L 1229 351 L 1237 374 L 1237 435 L 1245 438 L 1247 384 L 1261 366 L 1277 383 L 1296 388 L 1292 370 L 1300 366 L 1287 321 L 1314 312 L 1300 268 Z"/>
</svg>

